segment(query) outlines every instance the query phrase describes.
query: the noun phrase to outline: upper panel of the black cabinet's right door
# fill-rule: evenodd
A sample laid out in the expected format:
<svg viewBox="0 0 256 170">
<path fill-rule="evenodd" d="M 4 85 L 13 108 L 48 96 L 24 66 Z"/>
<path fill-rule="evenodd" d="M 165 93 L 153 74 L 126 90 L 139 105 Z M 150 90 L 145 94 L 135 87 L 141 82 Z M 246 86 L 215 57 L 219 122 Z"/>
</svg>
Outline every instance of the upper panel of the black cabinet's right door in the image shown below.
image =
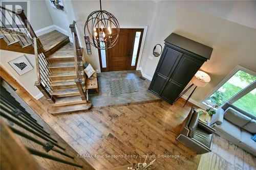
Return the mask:
<svg viewBox="0 0 256 170">
<path fill-rule="evenodd" d="M 175 74 L 172 76 L 172 80 L 186 85 L 195 75 L 195 71 L 199 69 L 200 65 L 199 60 L 183 55 Z"/>
</svg>

